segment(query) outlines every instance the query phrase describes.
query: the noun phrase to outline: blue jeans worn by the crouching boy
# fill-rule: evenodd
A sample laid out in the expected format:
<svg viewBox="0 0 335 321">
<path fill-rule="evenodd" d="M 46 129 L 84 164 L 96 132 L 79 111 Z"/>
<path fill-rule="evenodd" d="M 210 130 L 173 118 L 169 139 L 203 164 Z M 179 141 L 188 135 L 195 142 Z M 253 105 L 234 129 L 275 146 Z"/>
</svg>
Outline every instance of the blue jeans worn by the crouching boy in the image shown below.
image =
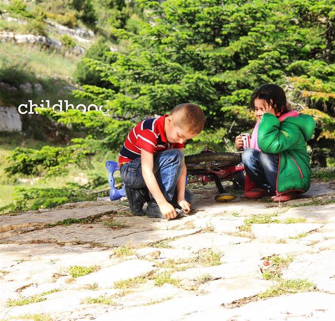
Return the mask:
<svg viewBox="0 0 335 321">
<path fill-rule="evenodd" d="M 166 201 L 177 206 L 177 181 L 182 174 L 184 153 L 177 149 L 167 149 L 153 154 L 153 174 Z M 121 166 L 120 175 L 124 185 L 134 189 L 146 188 L 141 169 L 141 157 Z M 185 188 L 185 200 L 191 205 L 195 201 L 193 193 Z"/>
</svg>

